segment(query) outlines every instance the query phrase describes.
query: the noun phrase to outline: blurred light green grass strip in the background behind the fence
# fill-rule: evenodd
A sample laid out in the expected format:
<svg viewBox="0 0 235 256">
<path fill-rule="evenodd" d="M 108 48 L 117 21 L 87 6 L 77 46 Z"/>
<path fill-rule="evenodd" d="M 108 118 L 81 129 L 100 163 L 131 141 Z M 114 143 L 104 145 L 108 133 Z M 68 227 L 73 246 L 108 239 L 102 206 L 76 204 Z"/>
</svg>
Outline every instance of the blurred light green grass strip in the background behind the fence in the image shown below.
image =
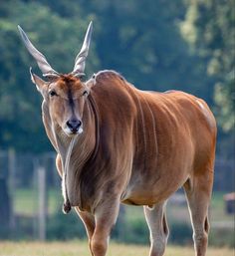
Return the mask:
<svg viewBox="0 0 235 256">
<path fill-rule="evenodd" d="M 61 188 L 50 189 L 48 192 L 48 212 L 53 214 L 63 203 Z M 23 215 L 35 215 L 38 211 L 38 191 L 37 189 L 17 189 L 13 198 L 13 206 L 16 213 Z M 142 207 L 125 206 L 127 220 L 134 220 L 143 217 Z M 190 222 L 187 206 L 167 205 L 168 218 Z M 210 207 L 211 221 L 233 221 L 233 216 L 224 211 L 224 201 L 222 192 L 214 192 Z"/>
</svg>

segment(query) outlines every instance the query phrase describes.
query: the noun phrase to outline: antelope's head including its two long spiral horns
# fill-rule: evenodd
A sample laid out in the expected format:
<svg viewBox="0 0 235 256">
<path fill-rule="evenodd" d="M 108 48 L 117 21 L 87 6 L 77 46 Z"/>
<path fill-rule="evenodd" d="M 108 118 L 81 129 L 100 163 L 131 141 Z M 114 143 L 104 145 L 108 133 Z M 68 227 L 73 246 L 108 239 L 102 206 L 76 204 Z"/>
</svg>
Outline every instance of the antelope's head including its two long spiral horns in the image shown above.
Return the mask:
<svg viewBox="0 0 235 256">
<path fill-rule="evenodd" d="M 55 71 L 46 57 L 30 42 L 23 29 L 18 26 L 24 45 L 36 60 L 45 80 L 32 73 L 31 80 L 44 98 L 54 128 L 61 128 L 68 136 L 83 132 L 83 113 L 90 88 L 81 81 L 85 75 L 86 58 L 92 37 L 93 24 L 90 23 L 82 49 L 75 60 L 73 72 L 60 74 Z"/>
</svg>

